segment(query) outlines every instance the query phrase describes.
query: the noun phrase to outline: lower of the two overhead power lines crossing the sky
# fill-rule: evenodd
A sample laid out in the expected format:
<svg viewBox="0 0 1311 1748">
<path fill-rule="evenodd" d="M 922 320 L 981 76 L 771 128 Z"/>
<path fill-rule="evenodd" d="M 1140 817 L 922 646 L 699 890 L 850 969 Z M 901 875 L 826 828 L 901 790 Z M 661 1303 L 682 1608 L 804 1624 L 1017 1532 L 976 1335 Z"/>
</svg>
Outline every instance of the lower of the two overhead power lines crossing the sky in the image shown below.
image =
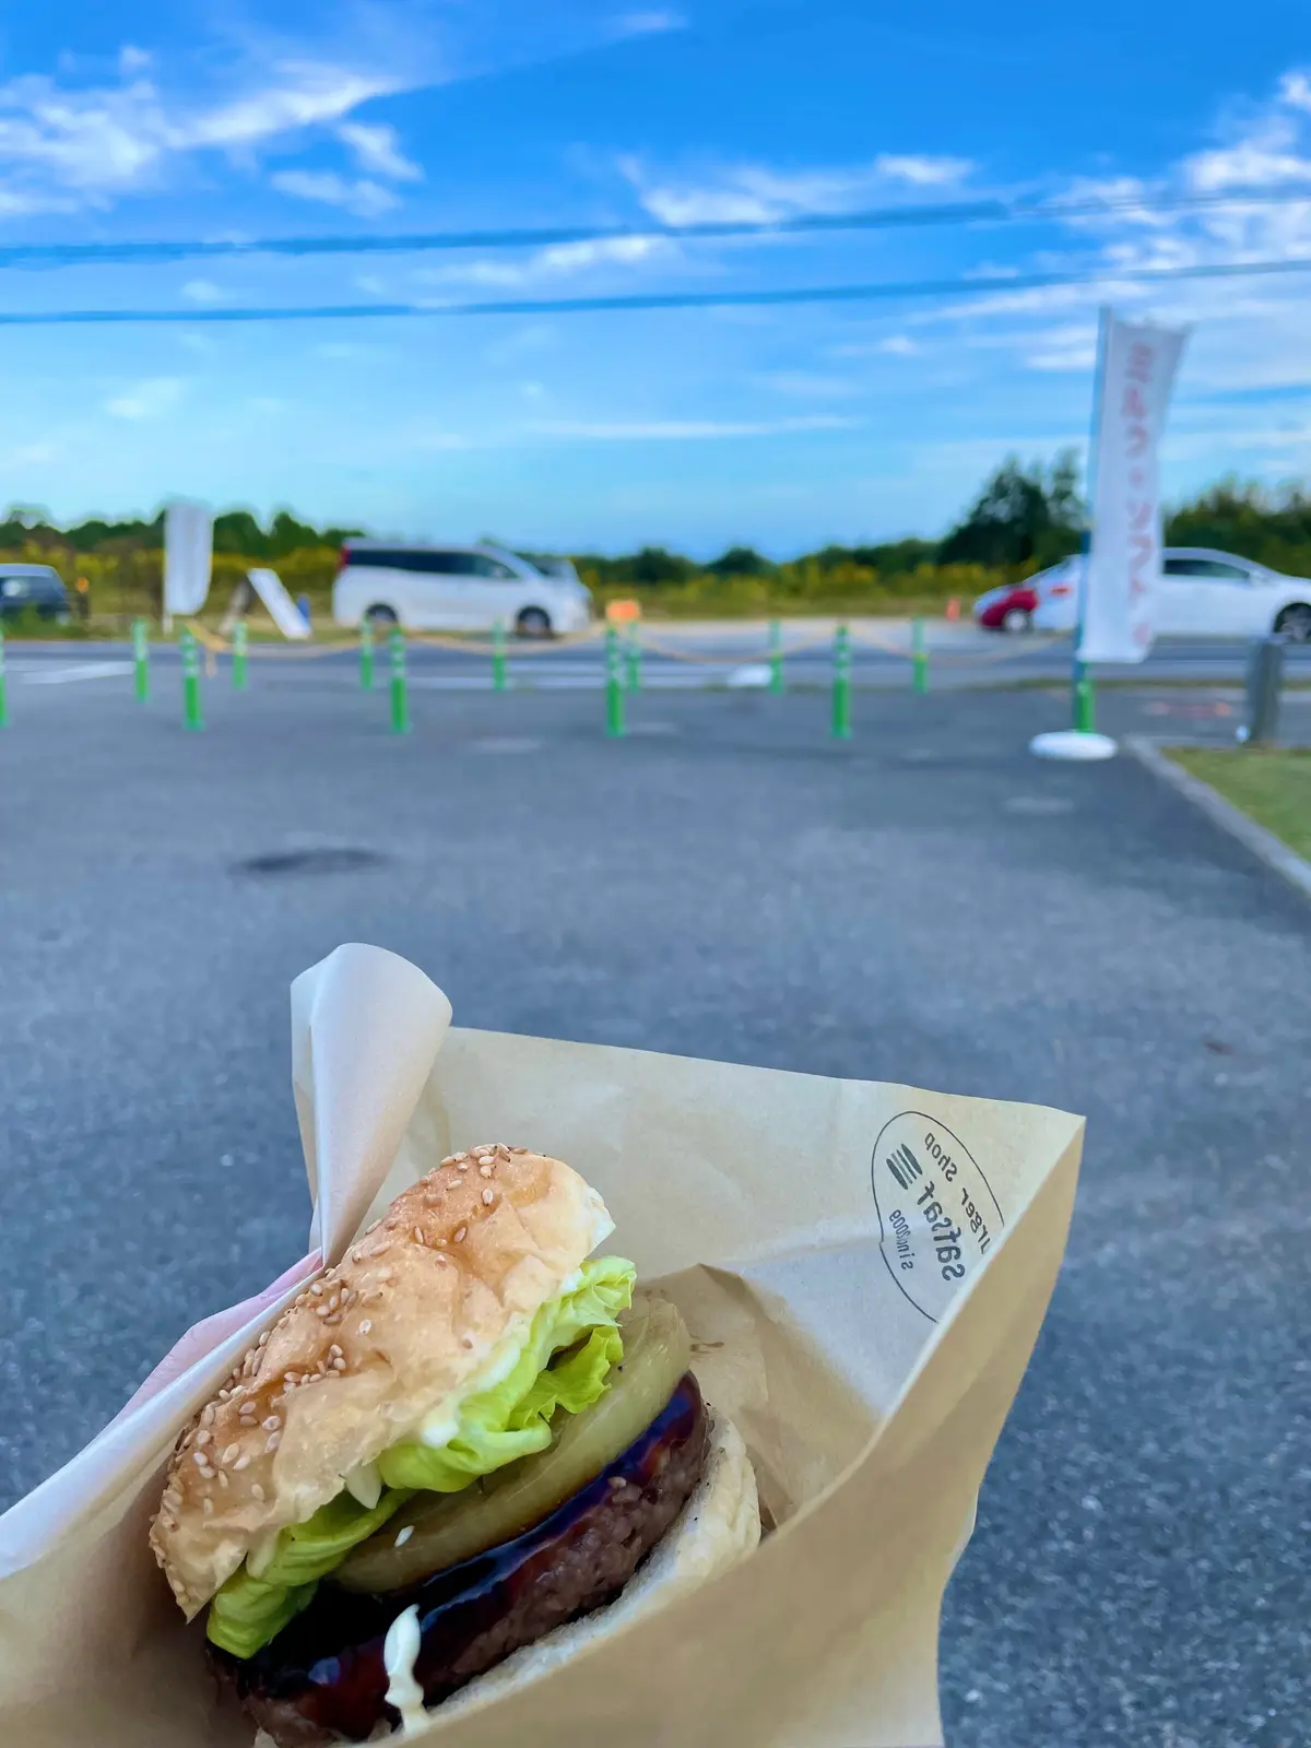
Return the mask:
<svg viewBox="0 0 1311 1748">
<path fill-rule="evenodd" d="M 1304 260 L 1225 260 L 1196 267 L 1098 267 L 1089 273 L 984 274 L 972 280 L 886 280 L 872 285 L 797 285 L 739 292 L 631 292 L 614 297 L 521 297 L 486 302 L 290 304 L 208 309 L 10 309 L 0 327 L 84 327 L 124 323 L 362 322 L 400 316 L 542 316 L 640 309 L 745 309 L 790 304 L 858 304 L 918 297 L 977 297 L 982 292 L 1031 292 L 1052 285 L 1173 285 L 1183 280 L 1306 273 Z"/>
</svg>

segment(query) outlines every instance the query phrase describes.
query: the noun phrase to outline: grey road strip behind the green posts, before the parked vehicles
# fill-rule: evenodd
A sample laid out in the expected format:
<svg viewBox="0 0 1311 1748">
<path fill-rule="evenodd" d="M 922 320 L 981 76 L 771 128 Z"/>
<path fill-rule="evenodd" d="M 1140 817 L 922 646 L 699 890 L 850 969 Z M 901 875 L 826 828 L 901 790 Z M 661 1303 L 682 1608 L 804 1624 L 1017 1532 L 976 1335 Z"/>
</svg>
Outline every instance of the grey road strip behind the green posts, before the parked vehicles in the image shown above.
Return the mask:
<svg viewBox="0 0 1311 1748">
<path fill-rule="evenodd" d="M 830 676 L 834 621 L 788 621 L 785 628 L 785 675 L 788 683 L 825 685 Z M 683 689 L 703 685 L 759 685 L 767 675 L 767 628 L 753 622 L 682 622 L 649 624 L 645 638 L 652 649 L 642 659 L 643 685 Z M 911 683 L 911 628 L 897 619 L 851 621 L 851 678 L 860 687 L 902 687 Z M 21 643 L 7 647 L 9 673 L 17 683 L 80 685 L 122 683 L 129 671 L 124 643 Z M 491 685 L 491 661 L 481 650 L 407 645 L 411 683 L 449 690 L 482 690 Z M 1099 668 L 1103 678 L 1115 680 L 1194 680 L 1211 683 L 1241 682 L 1248 645 L 1241 640 L 1162 640 L 1136 668 Z M 173 645 L 156 645 L 152 662 L 159 669 L 177 664 Z M 217 657 L 225 669 L 227 657 Z M 280 682 L 351 683 L 357 671 L 353 647 L 252 645 L 252 680 L 276 671 Z M 386 649 L 376 654 L 378 680 L 386 673 Z M 977 687 L 1009 685 L 1016 680 L 1065 680 L 1070 671 L 1066 638 L 1002 636 L 975 626 L 928 626 L 930 685 Z M 1290 678 L 1311 680 L 1311 645 L 1290 645 Z M 605 657 L 600 640 L 558 645 L 509 647 L 509 678 L 516 687 L 591 689 L 605 683 Z"/>
</svg>

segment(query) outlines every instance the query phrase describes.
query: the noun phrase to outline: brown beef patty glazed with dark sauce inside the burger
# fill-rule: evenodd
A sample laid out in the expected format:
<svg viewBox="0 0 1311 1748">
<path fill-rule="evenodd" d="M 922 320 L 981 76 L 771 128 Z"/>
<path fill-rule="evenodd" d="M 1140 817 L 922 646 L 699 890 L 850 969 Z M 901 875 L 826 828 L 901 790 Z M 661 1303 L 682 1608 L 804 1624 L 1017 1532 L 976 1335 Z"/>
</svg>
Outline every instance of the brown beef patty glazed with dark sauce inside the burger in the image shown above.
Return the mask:
<svg viewBox="0 0 1311 1748">
<path fill-rule="evenodd" d="M 687 1372 L 628 1451 L 512 1542 L 386 1596 L 358 1596 L 329 1580 L 253 1657 L 215 1647 L 210 1657 L 278 1748 L 365 1741 L 379 1722 L 399 1724 L 383 1664 L 399 1613 L 418 1606 L 414 1676 L 435 1706 L 510 1652 L 615 1598 L 696 1489 L 706 1442 L 706 1407 Z"/>
</svg>

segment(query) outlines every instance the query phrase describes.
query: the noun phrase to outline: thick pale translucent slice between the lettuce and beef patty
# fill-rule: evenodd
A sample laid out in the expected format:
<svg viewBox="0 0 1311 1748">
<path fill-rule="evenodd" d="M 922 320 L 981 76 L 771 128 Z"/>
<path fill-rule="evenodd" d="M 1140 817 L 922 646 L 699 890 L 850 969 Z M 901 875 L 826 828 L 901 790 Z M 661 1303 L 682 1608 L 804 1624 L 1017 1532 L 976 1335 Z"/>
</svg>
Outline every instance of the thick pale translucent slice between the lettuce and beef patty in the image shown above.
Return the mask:
<svg viewBox="0 0 1311 1748">
<path fill-rule="evenodd" d="M 593 1481 L 656 1419 L 687 1370 L 692 1342 L 671 1304 L 621 1320 L 624 1358 L 600 1402 L 561 1412 L 547 1451 L 507 1463 L 463 1493 L 420 1493 L 332 1573 L 348 1591 L 400 1591 L 510 1542 Z M 397 1536 L 409 1536 L 397 1547 Z"/>
</svg>

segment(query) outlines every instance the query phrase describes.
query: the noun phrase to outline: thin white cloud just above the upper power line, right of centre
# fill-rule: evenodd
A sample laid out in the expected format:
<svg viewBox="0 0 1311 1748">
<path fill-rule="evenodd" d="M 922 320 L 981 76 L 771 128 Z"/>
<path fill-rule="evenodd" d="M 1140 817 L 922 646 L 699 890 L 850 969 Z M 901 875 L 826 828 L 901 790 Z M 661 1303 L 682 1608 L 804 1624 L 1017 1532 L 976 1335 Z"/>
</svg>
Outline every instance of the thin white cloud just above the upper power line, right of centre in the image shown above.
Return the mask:
<svg viewBox="0 0 1311 1748">
<path fill-rule="evenodd" d="M 970 170 L 963 157 L 884 154 L 872 164 L 837 170 L 781 171 L 767 164 L 738 164 L 710 182 L 675 184 L 652 180 L 636 157 L 619 161 L 621 175 L 643 208 L 664 225 L 773 224 L 808 213 L 843 213 L 886 196 L 890 184 L 942 185 L 960 182 Z"/>
</svg>

